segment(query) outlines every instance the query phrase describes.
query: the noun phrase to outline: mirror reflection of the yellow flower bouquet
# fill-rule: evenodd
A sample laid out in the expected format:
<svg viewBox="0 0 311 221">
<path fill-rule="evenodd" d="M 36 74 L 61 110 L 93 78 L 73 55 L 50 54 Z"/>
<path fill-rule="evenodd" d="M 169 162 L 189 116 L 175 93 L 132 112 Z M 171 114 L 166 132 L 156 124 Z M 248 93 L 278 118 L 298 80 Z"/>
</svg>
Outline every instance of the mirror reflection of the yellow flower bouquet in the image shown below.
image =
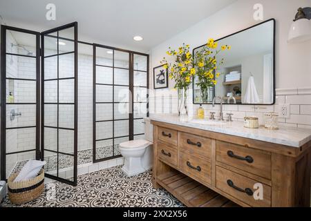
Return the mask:
<svg viewBox="0 0 311 221">
<path fill-rule="evenodd" d="M 217 79 L 220 76 L 218 68 L 224 63 L 221 59 L 217 61 L 216 56 L 223 50 L 230 50 L 231 46 L 221 46 L 218 48 L 218 42 L 209 39 L 207 44 L 194 55 L 194 67 L 196 68 L 196 77 L 198 81 L 196 86 L 200 87 L 202 103 L 207 103 L 209 88 L 216 86 Z"/>
</svg>

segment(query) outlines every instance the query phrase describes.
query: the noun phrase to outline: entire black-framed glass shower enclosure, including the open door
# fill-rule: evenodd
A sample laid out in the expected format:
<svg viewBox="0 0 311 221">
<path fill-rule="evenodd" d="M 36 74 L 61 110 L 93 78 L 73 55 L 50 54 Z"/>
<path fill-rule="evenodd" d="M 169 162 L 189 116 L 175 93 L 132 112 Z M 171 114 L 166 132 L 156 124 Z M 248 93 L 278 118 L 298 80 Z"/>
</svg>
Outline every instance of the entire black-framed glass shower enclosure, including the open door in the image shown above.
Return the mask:
<svg viewBox="0 0 311 221">
<path fill-rule="evenodd" d="M 77 166 L 120 157 L 144 138 L 149 55 L 77 40 L 77 23 L 45 32 L 1 27 L 1 180 L 28 160 L 77 184 Z M 79 127 L 78 127 L 79 126 Z"/>
</svg>

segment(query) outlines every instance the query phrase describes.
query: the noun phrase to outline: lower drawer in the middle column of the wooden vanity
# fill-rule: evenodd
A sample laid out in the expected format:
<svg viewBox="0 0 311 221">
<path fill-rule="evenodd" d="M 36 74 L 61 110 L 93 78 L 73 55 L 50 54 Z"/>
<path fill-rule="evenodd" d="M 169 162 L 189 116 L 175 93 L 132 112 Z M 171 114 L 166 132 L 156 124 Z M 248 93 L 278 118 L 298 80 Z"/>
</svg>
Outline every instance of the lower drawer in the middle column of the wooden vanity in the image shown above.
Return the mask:
<svg viewBox="0 0 311 221">
<path fill-rule="evenodd" d="M 180 170 L 198 181 L 211 184 L 211 162 L 180 151 Z"/>
</svg>

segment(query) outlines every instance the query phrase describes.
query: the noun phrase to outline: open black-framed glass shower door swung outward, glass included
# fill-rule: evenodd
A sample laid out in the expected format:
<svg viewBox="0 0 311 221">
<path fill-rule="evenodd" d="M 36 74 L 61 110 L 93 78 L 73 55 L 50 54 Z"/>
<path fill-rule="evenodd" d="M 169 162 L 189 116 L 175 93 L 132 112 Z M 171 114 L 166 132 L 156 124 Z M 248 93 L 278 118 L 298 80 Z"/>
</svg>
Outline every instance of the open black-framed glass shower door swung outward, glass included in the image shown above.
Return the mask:
<svg viewBox="0 0 311 221">
<path fill-rule="evenodd" d="M 77 23 L 41 33 L 41 158 L 46 177 L 77 185 Z"/>
</svg>

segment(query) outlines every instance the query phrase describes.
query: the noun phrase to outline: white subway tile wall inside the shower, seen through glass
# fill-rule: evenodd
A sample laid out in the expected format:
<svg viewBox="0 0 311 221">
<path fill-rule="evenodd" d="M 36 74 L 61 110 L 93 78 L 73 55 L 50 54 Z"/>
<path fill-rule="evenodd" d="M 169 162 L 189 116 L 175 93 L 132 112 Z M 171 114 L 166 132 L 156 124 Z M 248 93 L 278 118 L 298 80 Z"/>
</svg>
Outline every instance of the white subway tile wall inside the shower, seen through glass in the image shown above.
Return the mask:
<svg viewBox="0 0 311 221">
<path fill-rule="evenodd" d="M 12 44 L 17 44 L 12 35 L 8 35 L 7 48 L 8 52 L 18 53 L 19 48 L 11 47 Z M 70 43 L 70 42 L 68 42 Z M 35 52 L 35 48 L 28 47 L 28 50 Z M 23 50 L 23 49 L 20 49 Z M 93 46 L 89 46 L 90 53 L 93 52 Z M 55 55 L 55 50 L 45 50 L 46 55 Z M 98 54 L 98 53 L 97 53 Z M 112 66 L 112 59 L 107 57 L 104 52 L 104 57 L 98 60 L 100 64 Z M 115 60 L 115 66 L 120 68 L 129 68 L 129 54 L 124 52 L 115 52 L 115 57 L 122 61 Z M 147 58 L 140 55 L 135 55 L 134 69 L 140 70 L 134 73 L 135 86 L 135 102 L 146 102 L 147 90 L 139 88 L 139 86 L 147 86 L 146 71 Z M 59 77 L 73 77 L 74 73 L 74 57 L 73 54 L 62 55 L 59 57 Z M 57 78 L 57 57 L 49 57 L 45 59 L 44 64 L 45 76 L 44 79 Z M 7 76 L 19 77 L 26 79 L 35 79 L 35 59 L 28 57 L 13 57 L 8 55 L 7 58 Z M 112 68 L 97 67 L 97 81 L 103 84 L 112 84 Z M 124 86 L 129 85 L 129 70 L 115 68 L 115 84 Z M 115 101 L 129 102 L 129 87 L 115 86 Z M 7 97 L 10 92 L 15 97 L 15 102 L 33 102 L 35 103 L 35 81 L 7 81 Z M 74 102 L 74 80 L 62 79 L 59 80 L 59 102 L 73 103 Z M 44 99 L 46 103 L 57 102 L 57 81 L 45 81 Z M 97 86 L 97 102 L 112 102 L 113 90 L 111 86 Z M 129 118 L 129 104 L 114 104 L 115 119 Z M 10 111 L 14 109 L 17 113 L 21 113 L 21 117 L 10 121 Z M 134 117 L 145 117 L 147 113 L 147 104 L 134 104 Z M 35 105 L 10 105 L 7 108 L 8 127 L 15 126 L 35 126 Z M 113 118 L 113 104 L 97 105 L 97 120 L 106 120 Z M 45 104 L 44 119 L 46 126 L 57 126 L 57 105 Z M 144 125 L 142 120 L 135 122 L 135 132 L 144 133 Z M 59 126 L 64 128 L 74 127 L 74 106 L 72 104 L 59 105 Z M 45 148 L 57 150 L 57 130 L 53 128 L 44 128 L 44 143 Z M 97 139 L 113 137 L 112 122 L 103 122 L 97 126 Z M 129 135 L 129 120 L 115 122 L 115 137 Z M 138 136 L 135 136 L 138 138 Z M 129 137 L 115 139 L 115 144 L 120 144 L 129 140 Z M 79 54 L 78 55 L 78 151 L 93 148 L 93 56 Z M 96 146 L 112 145 L 112 140 L 97 142 Z M 30 146 L 35 147 L 35 129 L 19 129 L 8 130 L 7 132 L 7 152 L 28 150 Z M 73 152 L 73 131 L 59 130 L 59 151 L 64 153 Z M 115 150 L 117 153 L 117 149 Z M 7 160 L 7 171 L 10 173 L 18 160 L 27 160 L 34 158 L 35 153 L 20 153 L 12 155 Z M 117 153 L 119 154 L 119 153 Z M 53 155 L 45 152 L 45 155 Z"/>
</svg>

